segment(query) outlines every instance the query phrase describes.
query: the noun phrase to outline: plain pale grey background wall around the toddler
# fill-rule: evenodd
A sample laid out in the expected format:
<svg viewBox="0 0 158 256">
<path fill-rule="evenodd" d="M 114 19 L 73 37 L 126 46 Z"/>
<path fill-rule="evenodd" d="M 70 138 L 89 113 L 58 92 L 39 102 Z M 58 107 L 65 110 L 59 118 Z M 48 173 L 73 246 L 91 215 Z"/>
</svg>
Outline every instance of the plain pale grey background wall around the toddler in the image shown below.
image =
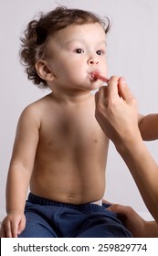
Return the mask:
<svg viewBox="0 0 158 256">
<path fill-rule="evenodd" d="M 158 95 L 158 2 L 156 0 L 0 0 L 0 218 L 5 215 L 5 181 L 22 110 L 48 91 L 37 89 L 26 79 L 19 63 L 19 37 L 26 24 L 39 11 L 67 5 L 109 16 L 109 76 L 124 76 L 139 101 L 142 114 L 157 112 Z M 146 143 L 158 159 L 157 142 Z M 110 144 L 105 196 L 111 202 L 131 205 L 145 219 L 152 219 L 145 208 L 126 165 Z"/>
</svg>

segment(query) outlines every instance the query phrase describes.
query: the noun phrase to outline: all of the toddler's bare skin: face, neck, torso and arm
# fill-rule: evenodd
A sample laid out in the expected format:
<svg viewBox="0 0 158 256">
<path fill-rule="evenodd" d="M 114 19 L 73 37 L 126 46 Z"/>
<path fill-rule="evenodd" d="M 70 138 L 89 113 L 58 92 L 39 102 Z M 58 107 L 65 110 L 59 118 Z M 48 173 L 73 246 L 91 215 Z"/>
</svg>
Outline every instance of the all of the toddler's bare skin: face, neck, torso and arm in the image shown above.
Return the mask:
<svg viewBox="0 0 158 256">
<path fill-rule="evenodd" d="M 83 204 L 103 197 L 109 139 L 95 119 L 90 92 L 102 82 L 90 72 L 107 75 L 105 46 L 100 24 L 69 26 L 49 40 L 50 57 L 37 62 L 38 75 L 52 92 L 20 116 L 2 237 L 17 237 L 25 229 L 29 185 L 33 194 L 63 203 Z"/>
</svg>

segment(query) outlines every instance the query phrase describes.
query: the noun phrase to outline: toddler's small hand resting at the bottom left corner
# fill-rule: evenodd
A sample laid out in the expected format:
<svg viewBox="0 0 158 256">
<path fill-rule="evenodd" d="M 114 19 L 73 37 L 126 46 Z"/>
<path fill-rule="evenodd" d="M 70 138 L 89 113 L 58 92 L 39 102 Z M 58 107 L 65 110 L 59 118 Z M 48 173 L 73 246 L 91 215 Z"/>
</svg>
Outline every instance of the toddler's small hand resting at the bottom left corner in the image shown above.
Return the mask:
<svg viewBox="0 0 158 256">
<path fill-rule="evenodd" d="M 26 227 L 26 217 L 21 211 L 10 211 L 2 222 L 1 238 L 17 238 Z"/>
</svg>

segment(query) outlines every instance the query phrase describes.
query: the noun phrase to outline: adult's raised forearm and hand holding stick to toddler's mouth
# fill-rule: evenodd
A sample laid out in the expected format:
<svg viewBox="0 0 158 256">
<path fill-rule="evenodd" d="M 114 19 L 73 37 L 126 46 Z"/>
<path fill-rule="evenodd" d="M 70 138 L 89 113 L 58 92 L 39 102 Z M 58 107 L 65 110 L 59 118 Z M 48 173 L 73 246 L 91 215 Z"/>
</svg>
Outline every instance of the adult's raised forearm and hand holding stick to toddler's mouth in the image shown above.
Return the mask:
<svg viewBox="0 0 158 256">
<path fill-rule="evenodd" d="M 142 141 L 137 101 L 125 81 L 115 76 L 95 97 L 100 127 L 115 144 L 145 205 L 158 222 L 158 165 Z"/>
</svg>

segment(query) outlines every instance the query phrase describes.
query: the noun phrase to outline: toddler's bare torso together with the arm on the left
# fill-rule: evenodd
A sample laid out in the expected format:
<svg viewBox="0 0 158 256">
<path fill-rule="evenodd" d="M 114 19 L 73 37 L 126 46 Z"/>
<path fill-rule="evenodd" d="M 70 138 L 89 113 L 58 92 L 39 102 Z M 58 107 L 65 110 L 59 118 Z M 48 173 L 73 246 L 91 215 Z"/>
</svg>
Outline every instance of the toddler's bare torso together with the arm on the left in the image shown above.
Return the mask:
<svg viewBox="0 0 158 256">
<path fill-rule="evenodd" d="M 82 204 L 103 197 L 108 139 L 94 108 L 94 96 L 58 104 L 49 94 L 22 113 L 7 181 L 8 217 L 23 212 L 29 180 L 33 194 L 58 202 Z"/>
</svg>

